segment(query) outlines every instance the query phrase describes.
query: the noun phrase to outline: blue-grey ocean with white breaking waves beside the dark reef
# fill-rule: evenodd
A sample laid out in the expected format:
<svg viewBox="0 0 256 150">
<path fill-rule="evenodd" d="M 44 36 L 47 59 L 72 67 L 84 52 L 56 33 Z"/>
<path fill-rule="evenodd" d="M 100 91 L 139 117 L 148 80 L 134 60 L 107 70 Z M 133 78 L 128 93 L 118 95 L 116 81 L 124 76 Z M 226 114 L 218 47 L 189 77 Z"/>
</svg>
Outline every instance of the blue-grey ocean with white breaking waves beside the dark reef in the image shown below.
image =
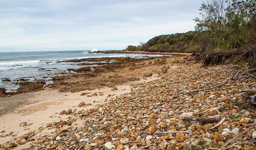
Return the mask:
<svg viewBox="0 0 256 150">
<path fill-rule="evenodd" d="M 16 92 L 20 79 L 28 81 L 45 80 L 46 84 L 53 83 L 51 77 L 68 68 L 81 68 L 76 62 L 66 60 L 102 57 L 156 57 L 163 55 L 149 54 L 103 54 L 94 53 L 97 50 L 86 51 L 42 51 L 42 52 L 2 52 L 0 53 L 0 88 L 6 92 Z M 81 62 L 79 62 L 81 63 Z"/>
</svg>

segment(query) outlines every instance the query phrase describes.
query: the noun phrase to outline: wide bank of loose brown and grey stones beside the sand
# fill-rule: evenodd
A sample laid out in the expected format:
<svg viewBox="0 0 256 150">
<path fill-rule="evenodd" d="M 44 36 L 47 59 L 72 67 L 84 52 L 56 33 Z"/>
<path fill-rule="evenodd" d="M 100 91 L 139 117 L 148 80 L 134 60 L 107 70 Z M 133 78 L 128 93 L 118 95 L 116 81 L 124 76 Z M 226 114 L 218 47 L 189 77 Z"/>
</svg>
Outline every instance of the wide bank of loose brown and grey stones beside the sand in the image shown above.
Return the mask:
<svg viewBox="0 0 256 150">
<path fill-rule="evenodd" d="M 113 71 L 105 72 L 108 76 L 104 74 L 97 82 L 91 82 L 104 80 L 109 84 L 101 86 L 114 87 L 124 82 L 110 83 L 127 75 L 146 78 L 151 75 L 148 73 L 158 73 L 159 78 L 131 84 L 130 92 L 108 95 L 107 101 L 92 108 L 89 108 L 91 104 L 80 102 L 49 116 L 65 116 L 67 120 L 44 122 L 37 130 L 23 135 L 2 131 L 0 139 L 8 136 L 11 139 L 0 147 L 21 149 L 20 146 L 26 145 L 23 150 L 251 150 L 256 147 L 256 111 L 251 104 L 256 85 L 254 70 L 235 65 L 203 67 L 193 57 L 167 57 L 134 64 L 112 68 Z M 72 81 L 75 76 L 76 80 Z M 63 92 L 77 92 L 75 88 L 86 90 L 85 85 L 78 83 L 85 82 L 91 74 L 75 76 L 63 77 L 56 86 L 50 86 Z M 128 76 L 123 80 L 129 79 Z M 100 87 L 94 89 L 97 88 Z M 93 93 L 84 95 L 90 97 Z M 20 126 L 25 129 L 29 124 Z"/>
</svg>

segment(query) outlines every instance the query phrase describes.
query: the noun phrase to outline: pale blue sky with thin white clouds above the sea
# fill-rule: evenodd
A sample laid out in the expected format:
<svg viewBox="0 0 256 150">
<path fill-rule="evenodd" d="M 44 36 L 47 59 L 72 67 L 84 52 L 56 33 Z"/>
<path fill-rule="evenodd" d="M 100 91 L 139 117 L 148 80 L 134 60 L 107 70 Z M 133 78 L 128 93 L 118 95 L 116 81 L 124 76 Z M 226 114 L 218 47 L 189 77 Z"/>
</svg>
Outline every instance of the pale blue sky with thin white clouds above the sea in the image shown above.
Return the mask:
<svg viewBox="0 0 256 150">
<path fill-rule="evenodd" d="M 203 0 L 0 0 L 0 52 L 122 50 L 193 31 Z"/>
</svg>

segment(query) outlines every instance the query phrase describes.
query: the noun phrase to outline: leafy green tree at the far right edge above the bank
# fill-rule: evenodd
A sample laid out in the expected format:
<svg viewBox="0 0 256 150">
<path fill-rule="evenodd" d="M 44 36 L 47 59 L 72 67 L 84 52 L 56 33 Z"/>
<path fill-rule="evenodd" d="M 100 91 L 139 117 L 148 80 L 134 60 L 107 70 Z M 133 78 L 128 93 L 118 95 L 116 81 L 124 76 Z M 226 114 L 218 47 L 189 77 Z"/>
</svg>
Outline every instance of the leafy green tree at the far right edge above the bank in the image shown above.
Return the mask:
<svg viewBox="0 0 256 150">
<path fill-rule="evenodd" d="M 250 66 L 256 67 L 256 1 L 233 0 L 228 18 L 235 47 Z"/>
</svg>

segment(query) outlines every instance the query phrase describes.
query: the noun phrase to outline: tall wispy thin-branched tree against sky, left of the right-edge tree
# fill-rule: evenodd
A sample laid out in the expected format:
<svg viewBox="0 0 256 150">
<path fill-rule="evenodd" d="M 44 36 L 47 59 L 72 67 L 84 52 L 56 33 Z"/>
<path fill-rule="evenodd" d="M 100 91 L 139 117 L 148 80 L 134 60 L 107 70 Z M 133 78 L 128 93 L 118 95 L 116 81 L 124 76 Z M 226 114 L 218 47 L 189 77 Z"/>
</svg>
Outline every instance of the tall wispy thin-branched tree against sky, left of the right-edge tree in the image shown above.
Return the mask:
<svg viewBox="0 0 256 150">
<path fill-rule="evenodd" d="M 223 47 L 228 39 L 227 8 L 230 0 L 206 0 L 200 7 L 200 18 L 194 19 L 197 23 L 196 31 L 206 31 L 204 38 L 208 42 L 202 48 L 214 49 Z"/>
</svg>

